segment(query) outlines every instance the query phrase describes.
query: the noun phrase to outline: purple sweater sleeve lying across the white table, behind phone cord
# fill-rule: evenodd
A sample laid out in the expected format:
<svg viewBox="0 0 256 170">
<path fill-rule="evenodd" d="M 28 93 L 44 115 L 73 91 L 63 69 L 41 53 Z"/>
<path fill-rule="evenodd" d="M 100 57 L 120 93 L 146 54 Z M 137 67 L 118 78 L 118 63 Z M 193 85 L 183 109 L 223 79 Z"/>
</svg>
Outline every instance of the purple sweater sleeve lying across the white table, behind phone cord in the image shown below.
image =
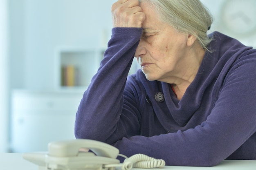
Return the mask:
<svg viewBox="0 0 256 170">
<path fill-rule="evenodd" d="M 255 51 L 236 62 L 217 92 L 218 99 L 207 120 L 199 126 L 152 137 L 123 138 L 115 146 L 128 157 L 144 153 L 164 159 L 166 165 L 215 166 L 245 142 L 251 142 L 252 148 L 239 154 L 256 159 L 255 66 Z"/>
</svg>

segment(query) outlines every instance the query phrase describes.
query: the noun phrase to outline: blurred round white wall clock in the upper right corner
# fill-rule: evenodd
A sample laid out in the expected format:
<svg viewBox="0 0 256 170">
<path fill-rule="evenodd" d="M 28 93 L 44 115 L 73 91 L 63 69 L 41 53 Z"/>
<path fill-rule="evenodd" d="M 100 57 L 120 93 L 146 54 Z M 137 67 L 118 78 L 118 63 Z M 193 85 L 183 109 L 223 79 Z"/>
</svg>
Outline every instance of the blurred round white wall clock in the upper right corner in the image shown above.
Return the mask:
<svg viewBox="0 0 256 170">
<path fill-rule="evenodd" d="M 221 23 L 236 35 L 256 33 L 256 0 L 226 0 L 221 9 Z"/>
</svg>

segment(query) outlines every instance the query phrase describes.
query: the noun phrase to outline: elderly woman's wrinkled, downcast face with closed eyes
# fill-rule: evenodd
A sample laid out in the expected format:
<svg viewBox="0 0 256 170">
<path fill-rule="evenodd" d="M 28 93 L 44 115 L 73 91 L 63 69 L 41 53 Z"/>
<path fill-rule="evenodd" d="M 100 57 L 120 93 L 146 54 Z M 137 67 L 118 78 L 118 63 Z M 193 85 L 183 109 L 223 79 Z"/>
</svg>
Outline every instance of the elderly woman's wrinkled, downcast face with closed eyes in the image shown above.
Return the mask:
<svg viewBox="0 0 256 170">
<path fill-rule="evenodd" d="M 152 9 L 141 4 L 146 19 L 143 35 L 135 52 L 141 70 L 150 81 L 170 83 L 170 79 L 183 76 L 189 51 L 189 34 L 178 33 L 172 26 L 160 22 Z"/>
</svg>

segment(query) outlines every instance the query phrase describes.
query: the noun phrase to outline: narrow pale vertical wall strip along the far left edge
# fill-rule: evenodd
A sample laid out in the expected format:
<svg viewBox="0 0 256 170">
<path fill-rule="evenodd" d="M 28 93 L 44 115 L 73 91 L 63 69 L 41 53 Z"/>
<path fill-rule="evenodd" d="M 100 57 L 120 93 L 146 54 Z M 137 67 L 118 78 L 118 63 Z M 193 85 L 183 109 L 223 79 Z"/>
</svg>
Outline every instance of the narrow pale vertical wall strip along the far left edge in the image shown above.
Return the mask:
<svg viewBox="0 0 256 170">
<path fill-rule="evenodd" d="M 7 35 L 7 0 L 0 0 L 0 152 L 7 152 L 8 146 Z"/>
</svg>

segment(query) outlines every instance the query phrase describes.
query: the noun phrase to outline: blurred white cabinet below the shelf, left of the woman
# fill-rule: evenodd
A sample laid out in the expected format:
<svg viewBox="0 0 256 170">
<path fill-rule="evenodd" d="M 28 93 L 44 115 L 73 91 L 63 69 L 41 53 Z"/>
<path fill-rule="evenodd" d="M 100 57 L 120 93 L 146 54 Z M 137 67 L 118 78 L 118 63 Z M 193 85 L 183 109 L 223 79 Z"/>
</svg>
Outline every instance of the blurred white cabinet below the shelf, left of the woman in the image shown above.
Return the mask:
<svg viewBox="0 0 256 170">
<path fill-rule="evenodd" d="M 11 151 L 47 151 L 51 141 L 74 139 L 83 91 L 13 91 Z"/>
</svg>

